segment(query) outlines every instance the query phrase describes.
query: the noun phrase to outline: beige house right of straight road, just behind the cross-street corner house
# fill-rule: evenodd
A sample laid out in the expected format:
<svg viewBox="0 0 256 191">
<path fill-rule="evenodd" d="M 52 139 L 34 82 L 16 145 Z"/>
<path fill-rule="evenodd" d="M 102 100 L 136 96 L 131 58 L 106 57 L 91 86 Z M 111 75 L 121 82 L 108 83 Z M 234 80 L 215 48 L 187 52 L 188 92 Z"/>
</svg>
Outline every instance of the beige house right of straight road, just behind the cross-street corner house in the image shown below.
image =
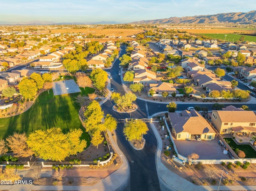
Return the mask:
<svg viewBox="0 0 256 191">
<path fill-rule="evenodd" d="M 156 78 L 156 73 L 147 70 L 135 70 L 134 71 L 134 79 L 133 83 L 141 83 L 145 85 L 145 87 L 149 87 L 150 84 L 159 83 L 159 79 Z"/>
</svg>

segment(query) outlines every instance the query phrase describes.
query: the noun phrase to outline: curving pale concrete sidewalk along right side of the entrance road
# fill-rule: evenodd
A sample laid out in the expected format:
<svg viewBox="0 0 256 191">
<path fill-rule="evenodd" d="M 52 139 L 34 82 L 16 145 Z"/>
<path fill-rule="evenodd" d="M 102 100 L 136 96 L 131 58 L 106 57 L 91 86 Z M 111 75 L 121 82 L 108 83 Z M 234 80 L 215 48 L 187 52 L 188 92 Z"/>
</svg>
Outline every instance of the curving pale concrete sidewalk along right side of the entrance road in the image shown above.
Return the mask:
<svg viewBox="0 0 256 191">
<path fill-rule="evenodd" d="M 212 191 L 217 190 L 218 186 L 196 186 L 190 181 L 180 177 L 166 168 L 161 162 L 162 139 L 153 123 L 150 124 L 157 142 L 156 169 L 160 188 L 163 191 Z M 219 190 L 256 190 L 256 186 L 220 186 Z"/>
</svg>

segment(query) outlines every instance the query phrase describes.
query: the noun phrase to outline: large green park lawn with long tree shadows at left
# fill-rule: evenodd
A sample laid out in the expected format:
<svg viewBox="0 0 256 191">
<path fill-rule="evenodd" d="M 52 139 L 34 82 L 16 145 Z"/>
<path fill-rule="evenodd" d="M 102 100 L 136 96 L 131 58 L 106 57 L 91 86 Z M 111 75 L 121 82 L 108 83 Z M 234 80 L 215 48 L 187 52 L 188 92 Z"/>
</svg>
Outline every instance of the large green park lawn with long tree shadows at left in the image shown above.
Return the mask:
<svg viewBox="0 0 256 191">
<path fill-rule="evenodd" d="M 0 119 L 0 139 L 12 135 L 13 132 L 30 132 L 38 129 L 46 130 L 52 127 L 59 127 L 64 133 L 73 128 L 83 130 L 82 139 L 90 145 L 90 136 L 85 132 L 78 116 L 80 105 L 76 102 L 79 94 L 87 95 L 93 93 L 92 88 L 81 88 L 81 93 L 54 96 L 43 92 L 36 98 L 34 104 L 26 112 L 8 118 Z"/>
</svg>

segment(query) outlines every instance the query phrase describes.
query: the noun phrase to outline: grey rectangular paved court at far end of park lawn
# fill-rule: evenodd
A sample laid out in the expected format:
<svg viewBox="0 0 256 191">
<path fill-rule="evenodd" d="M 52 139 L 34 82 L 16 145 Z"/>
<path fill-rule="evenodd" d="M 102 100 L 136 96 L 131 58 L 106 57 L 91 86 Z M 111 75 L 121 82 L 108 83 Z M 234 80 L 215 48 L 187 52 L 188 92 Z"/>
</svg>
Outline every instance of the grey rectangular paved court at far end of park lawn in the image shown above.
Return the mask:
<svg viewBox="0 0 256 191">
<path fill-rule="evenodd" d="M 78 85 L 73 79 L 53 82 L 52 90 L 54 95 L 81 92 Z"/>
</svg>

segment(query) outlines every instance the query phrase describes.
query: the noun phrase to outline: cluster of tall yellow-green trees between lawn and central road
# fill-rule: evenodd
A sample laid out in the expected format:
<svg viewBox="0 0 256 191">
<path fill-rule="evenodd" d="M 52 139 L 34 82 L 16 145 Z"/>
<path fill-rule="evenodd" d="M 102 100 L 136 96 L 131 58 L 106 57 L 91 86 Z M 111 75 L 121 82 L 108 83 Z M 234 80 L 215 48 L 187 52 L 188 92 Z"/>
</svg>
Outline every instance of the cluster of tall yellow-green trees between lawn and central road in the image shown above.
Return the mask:
<svg viewBox="0 0 256 191">
<path fill-rule="evenodd" d="M 104 112 L 96 100 L 93 100 L 87 106 L 84 116 L 86 118 L 84 121 L 86 132 L 88 132 L 88 134 L 92 137 L 92 145 L 96 146 L 98 149 L 98 145 L 104 140 L 104 137 L 102 137 L 102 132 L 105 132 L 106 130 L 115 130 L 117 127 L 116 119 L 112 117 L 112 115 L 107 114 L 106 118 L 104 119 L 104 123 L 102 123 Z"/>
</svg>

